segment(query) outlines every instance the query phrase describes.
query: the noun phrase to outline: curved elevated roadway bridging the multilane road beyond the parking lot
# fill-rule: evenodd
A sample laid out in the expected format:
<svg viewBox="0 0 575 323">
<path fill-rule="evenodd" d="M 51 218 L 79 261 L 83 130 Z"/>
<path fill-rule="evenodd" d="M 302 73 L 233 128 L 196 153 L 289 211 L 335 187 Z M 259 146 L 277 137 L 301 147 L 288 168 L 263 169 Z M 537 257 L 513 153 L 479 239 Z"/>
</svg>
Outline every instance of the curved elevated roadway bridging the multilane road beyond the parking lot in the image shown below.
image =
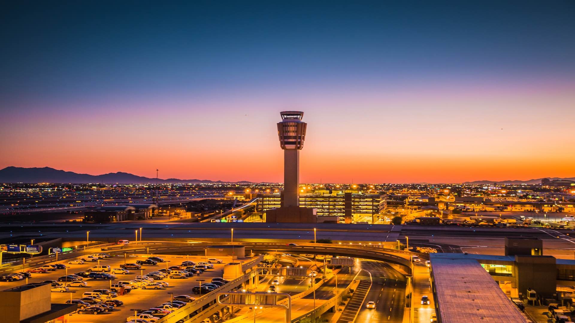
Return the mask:
<svg viewBox="0 0 575 323">
<path fill-rule="evenodd" d="M 145 243 L 145 241 L 144 241 Z M 175 253 L 175 252 L 201 252 L 206 247 L 211 245 L 243 245 L 247 249 L 255 251 L 275 251 L 287 253 L 310 253 L 310 254 L 324 254 L 324 255 L 340 255 L 347 257 L 359 257 L 363 259 L 378 260 L 381 262 L 388 262 L 398 264 L 406 268 L 407 272 L 411 274 L 413 264 L 411 263 L 411 255 L 415 253 L 407 251 L 397 251 L 394 249 L 366 247 L 359 245 L 339 245 L 339 244 L 298 244 L 298 245 L 285 245 L 279 243 L 170 243 L 158 246 L 153 245 L 149 247 L 149 251 L 153 253 Z M 121 247 L 110 247 L 108 251 L 147 251 L 143 249 L 144 245 L 129 245 Z"/>
</svg>

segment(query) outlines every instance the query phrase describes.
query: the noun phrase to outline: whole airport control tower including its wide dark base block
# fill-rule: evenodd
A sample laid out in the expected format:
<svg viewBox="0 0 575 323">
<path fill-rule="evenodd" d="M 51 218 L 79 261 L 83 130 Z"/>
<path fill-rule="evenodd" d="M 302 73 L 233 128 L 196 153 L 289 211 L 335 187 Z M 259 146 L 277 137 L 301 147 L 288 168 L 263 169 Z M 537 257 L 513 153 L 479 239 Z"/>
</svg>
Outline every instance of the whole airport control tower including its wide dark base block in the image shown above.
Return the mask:
<svg viewBox="0 0 575 323">
<path fill-rule="evenodd" d="M 282 111 L 278 122 L 279 145 L 283 149 L 283 192 L 281 207 L 267 210 L 266 222 L 317 222 L 316 209 L 300 207 L 300 150 L 305 129 L 302 111 Z"/>
</svg>

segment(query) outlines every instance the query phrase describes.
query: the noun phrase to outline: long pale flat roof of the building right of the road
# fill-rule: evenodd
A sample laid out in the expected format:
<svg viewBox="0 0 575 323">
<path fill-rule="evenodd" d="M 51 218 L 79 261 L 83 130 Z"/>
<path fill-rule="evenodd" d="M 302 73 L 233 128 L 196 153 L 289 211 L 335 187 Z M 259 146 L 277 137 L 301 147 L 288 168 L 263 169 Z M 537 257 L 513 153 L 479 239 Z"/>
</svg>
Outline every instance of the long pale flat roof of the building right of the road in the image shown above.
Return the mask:
<svg viewBox="0 0 575 323">
<path fill-rule="evenodd" d="M 476 259 L 448 255 L 431 254 L 439 322 L 527 322 Z"/>
</svg>

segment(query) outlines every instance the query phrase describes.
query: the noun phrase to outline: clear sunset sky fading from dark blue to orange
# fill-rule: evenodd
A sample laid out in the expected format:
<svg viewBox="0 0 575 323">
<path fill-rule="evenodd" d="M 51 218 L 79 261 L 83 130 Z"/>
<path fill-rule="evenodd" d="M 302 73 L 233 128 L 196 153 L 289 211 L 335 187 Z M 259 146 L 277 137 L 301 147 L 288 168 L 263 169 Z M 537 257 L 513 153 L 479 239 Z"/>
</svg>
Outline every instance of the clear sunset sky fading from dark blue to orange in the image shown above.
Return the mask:
<svg viewBox="0 0 575 323">
<path fill-rule="evenodd" d="M 2 10 L 0 168 L 282 182 L 302 110 L 301 182 L 575 176 L 573 1 L 54 3 Z"/>
</svg>

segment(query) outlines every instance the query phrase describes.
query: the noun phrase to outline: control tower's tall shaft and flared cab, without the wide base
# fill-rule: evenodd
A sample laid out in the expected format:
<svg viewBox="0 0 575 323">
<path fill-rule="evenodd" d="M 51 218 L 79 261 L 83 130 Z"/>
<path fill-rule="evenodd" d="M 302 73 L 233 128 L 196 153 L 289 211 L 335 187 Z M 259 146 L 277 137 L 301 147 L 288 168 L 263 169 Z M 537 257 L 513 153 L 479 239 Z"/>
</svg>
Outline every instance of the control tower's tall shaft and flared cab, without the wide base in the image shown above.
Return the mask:
<svg viewBox="0 0 575 323">
<path fill-rule="evenodd" d="M 282 111 L 278 122 L 279 145 L 283 149 L 283 206 L 300 205 L 300 149 L 304 148 L 307 124 L 302 111 Z"/>
</svg>

